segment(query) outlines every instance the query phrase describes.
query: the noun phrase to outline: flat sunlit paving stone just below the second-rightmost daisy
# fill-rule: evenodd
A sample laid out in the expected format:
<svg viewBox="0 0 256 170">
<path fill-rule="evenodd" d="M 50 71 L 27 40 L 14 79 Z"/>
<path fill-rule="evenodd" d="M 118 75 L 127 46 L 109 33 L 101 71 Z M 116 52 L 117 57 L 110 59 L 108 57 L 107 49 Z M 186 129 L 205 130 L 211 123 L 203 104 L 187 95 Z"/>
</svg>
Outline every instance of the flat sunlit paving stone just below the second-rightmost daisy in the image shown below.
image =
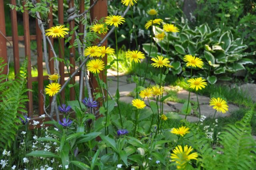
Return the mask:
<svg viewBox="0 0 256 170">
<path fill-rule="evenodd" d="M 177 96 L 180 99 L 188 100 L 188 93 L 189 92 L 187 90 L 181 90 L 177 92 Z M 193 92 L 190 92 L 190 101 L 197 102 L 196 94 Z M 206 96 L 198 95 L 198 101 L 199 101 L 199 104 L 208 104 L 210 101 L 210 98 Z"/>
</svg>

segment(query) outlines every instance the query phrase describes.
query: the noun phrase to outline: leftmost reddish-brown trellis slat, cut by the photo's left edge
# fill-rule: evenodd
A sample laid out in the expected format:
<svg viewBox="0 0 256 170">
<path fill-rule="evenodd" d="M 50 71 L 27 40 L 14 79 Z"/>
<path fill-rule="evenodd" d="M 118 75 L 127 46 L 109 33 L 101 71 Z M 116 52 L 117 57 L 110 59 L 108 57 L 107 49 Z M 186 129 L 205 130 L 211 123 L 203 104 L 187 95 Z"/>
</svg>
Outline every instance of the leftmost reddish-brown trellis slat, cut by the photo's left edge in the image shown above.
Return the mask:
<svg viewBox="0 0 256 170">
<path fill-rule="evenodd" d="M 0 57 L 4 58 L 4 63 L 7 63 L 7 46 L 6 46 L 6 30 L 4 19 L 4 0 L 0 0 Z M 7 66 L 4 67 L 2 74 L 7 74 Z"/>
</svg>

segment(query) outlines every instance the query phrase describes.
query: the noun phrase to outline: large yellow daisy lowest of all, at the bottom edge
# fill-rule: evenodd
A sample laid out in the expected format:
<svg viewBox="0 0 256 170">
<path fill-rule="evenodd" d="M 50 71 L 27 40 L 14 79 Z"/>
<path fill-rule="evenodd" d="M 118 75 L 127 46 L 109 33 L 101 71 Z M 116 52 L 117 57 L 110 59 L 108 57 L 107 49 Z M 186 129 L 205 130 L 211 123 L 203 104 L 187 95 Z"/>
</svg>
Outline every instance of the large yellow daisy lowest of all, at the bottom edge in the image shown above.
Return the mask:
<svg viewBox="0 0 256 170">
<path fill-rule="evenodd" d="M 198 153 L 194 152 L 190 154 L 192 150 L 193 148 L 191 146 L 188 148 L 188 145 L 184 146 L 184 149 L 181 145 L 175 147 L 175 149 L 172 151 L 173 153 L 171 154 L 170 158 L 172 158 L 172 162 L 176 162 L 177 169 L 185 169 L 186 164 L 190 162 L 190 160 L 197 160 Z"/>
</svg>

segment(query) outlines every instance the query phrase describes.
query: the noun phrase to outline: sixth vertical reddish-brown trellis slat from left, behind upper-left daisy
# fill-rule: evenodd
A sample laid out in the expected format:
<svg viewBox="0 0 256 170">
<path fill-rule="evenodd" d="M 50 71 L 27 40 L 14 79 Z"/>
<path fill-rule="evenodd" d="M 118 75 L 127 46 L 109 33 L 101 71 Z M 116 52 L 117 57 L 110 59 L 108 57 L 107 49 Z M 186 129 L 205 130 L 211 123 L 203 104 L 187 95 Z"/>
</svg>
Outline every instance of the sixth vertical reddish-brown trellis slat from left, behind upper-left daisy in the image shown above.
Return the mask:
<svg viewBox="0 0 256 170">
<path fill-rule="evenodd" d="M 59 24 L 64 24 L 64 8 L 63 8 L 63 0 L 58 0 L 58 22 Z M 64 58 L 64 56 L 62 56 L 62 53 L 60 51 L 60 49 L 64 50 L 64 38 L 60 39 L 60 46 L 59 46 L 59 58 Z M 63 85 L 65 80 L 64 80 L 64 62 L 60 62 L 60 84 Z M 62 92 L 60 92 L 60 96 L 62 98 L 63 101 L 65 101 L 65 91 L 62 90 Z"/>
</svg>

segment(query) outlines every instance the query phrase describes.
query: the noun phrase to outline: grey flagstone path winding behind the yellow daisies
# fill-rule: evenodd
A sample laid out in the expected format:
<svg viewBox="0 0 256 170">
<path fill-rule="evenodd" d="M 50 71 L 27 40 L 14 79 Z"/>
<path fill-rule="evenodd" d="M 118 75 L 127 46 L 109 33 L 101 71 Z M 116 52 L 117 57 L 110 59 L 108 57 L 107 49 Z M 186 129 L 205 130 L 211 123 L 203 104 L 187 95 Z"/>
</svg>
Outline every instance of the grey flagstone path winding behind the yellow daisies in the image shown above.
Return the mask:
<svg viewBox="0 0 256 170">
<path fill-rule="evenodd" d="M 109 92 L 110 94 L 112 94 L 113 96 L 116 93 L 116 87 L 117 87 L 117 74 L 114 71 L 109 71 L 108 72 L 108 87 L 109 87 Z M 131 103 L 132 100 L 134 99 L 133 97 L 131 97 L 131 92 L 134 90 L 134 88 L 136 88 L 136 84 L 135 83 L 128 83 L 127 80 L 127 76 L 123 75 L 119 77 L 119 93 L 120 93 L 120 101 L 122 102 L 126 102 L 126 103 Z M 166 91 L 171 90 L 169 87 L 164 87 L 164 89 Z M 165 95 L 168 93 L 165 93 Z M 186 90 L 180 90 L 177 92 L 177 97 L 179 99 L 183 99 L 183 100 L 188 100 L 188 91 Z M 153 98 L 152 98 L 153 99 Z M 154 101 L 150 99 L 150 101 Z M 200 111 L 201 111 L 201 115 L 204 115 L 206 117 L 213 117 L 215 110 L 212 109 L 211 106 L 209 106 L 209 100 L 210 98 L 206 97 L 206 96 L 200 96 L 198 95 L 198 101 L 200 103 Z M 196 108 L 196 110 L 191 110 L 190 115 L 187 116 L 187 120 L 190 122 L 197 122 L 198 121 L 198 117 L 196 117 L 196 115 L 198 114 L 199 110 L 197 108 L 197 99 L 196 99 L 196 94 L 195 93 L 190 93 L 190 101 L 192 102 L 192 105 L 195 104 L 194 107 L 192 108 Z M 145 104 L 147 105 L 147 108 L 150 108 L 149 103 L 147 100 L 145 100 Z M 179 102 L 173 102 L 173 101 L 167 101 L 166 103 L 164 103 L 164 112 L 176 112 L 179 114 L 180 118 L 184 118 L 185 116 L 180 114 L 181 110 L 182 110 L 182 106 L 183 103 L 179 103 Z M 218 116 L 230 116 L 231 112 L 234 110 L 239 109 L 238 106 L 235 106 L 233 104 L 228 104 L 229 106 L 229 111 L 226 114 L 222 114 L 222 113 L 216 113 L 215 117 Z"/>
</svg>

